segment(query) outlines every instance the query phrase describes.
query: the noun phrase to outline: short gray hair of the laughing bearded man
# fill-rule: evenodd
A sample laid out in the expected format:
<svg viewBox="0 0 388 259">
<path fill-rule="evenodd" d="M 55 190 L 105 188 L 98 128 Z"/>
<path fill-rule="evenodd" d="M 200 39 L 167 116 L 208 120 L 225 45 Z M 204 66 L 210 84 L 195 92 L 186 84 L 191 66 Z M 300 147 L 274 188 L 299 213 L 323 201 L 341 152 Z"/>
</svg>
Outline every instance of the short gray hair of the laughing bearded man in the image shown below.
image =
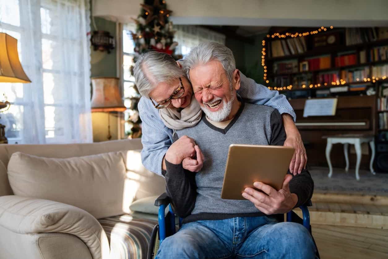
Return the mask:
<svg viewBox="0 0 388 259">
<path fill-rule="evenodd" d="M 232 50 L 218 42 L 204 42 L 190 51 L 183 63 L 187 78 L 190 79 L 189 72 L 191 69 L 213 60 L 221 62 L 229 82 L 232 83 L 233 72 L 236 70 L 236 61 L 234 60 Z"/>
</svg>

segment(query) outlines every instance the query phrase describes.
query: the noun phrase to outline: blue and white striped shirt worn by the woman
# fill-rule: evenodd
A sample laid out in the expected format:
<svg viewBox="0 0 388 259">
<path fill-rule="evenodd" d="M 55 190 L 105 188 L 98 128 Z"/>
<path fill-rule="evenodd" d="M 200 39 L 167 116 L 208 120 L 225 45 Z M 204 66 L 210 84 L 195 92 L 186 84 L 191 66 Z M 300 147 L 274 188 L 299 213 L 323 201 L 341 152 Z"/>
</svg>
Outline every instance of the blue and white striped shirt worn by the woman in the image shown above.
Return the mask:
<svg viewBox="0 0 388 259">
<path fill-rule="evenodd" d="M 279 113 L 288 113 L 296 120 L 293 108 L 286 97 L 278 91 L 269 90 L 240 72 L 240 89 L 237 94 L 246 102 L 271 106 Z M 160 174 L 163 157 L 172 143 L 173 130 L 167 128 L 159 117 L 159 112 L 149 99 L 140 98 L 138 104 L 142 120 L 142 163 L 150 171 Z"/>
</svg>

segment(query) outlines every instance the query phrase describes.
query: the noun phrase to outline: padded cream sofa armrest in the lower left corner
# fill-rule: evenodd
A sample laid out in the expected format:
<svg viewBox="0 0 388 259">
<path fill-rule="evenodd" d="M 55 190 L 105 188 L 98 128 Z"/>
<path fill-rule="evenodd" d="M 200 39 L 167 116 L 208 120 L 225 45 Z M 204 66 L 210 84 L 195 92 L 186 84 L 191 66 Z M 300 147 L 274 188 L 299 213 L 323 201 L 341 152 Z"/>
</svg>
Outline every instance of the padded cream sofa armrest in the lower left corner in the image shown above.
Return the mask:
<svg viewBox="0 0 388 259">
<path fill-rule="evenodd" d="M 16 195 L 1 196 L 0 226 L 19 234 L 74 235 L 87 245 L 93 259 L 109 258 L 109 242 L 97 219 L 68 204 Z"/>
</svg>

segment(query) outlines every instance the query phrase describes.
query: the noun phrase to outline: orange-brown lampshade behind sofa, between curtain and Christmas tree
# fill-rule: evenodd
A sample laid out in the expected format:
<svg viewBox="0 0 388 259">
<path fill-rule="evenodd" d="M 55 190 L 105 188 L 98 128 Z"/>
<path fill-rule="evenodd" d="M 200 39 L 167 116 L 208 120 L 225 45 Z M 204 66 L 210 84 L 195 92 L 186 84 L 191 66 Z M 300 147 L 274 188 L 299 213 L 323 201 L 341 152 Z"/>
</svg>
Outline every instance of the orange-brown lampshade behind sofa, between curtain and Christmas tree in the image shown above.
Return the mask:
<svg viewBox="0 0 388 259">
<path fill-rule="evenodd" d="M 92 78 L 92 111 L 125 111 L 117 77 Z"/>
</svg>

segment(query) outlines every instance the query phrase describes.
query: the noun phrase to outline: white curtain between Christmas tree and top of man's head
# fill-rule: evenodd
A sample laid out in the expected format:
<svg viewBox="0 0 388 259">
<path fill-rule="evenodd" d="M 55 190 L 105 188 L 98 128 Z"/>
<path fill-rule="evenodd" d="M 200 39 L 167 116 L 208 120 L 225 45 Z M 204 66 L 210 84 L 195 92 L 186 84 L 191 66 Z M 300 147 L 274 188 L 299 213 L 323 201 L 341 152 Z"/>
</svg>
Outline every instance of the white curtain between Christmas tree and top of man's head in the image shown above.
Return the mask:
<svg viewBox="0 0 388 259">
<path fill-rule="evenodd" d="M 225 35 L 193 25 L 175 25 L 174 41 L 178 42 L 175 54 L 186 56 L 199 43 L 214 41 L 225 44 Z"/>
</svg>

